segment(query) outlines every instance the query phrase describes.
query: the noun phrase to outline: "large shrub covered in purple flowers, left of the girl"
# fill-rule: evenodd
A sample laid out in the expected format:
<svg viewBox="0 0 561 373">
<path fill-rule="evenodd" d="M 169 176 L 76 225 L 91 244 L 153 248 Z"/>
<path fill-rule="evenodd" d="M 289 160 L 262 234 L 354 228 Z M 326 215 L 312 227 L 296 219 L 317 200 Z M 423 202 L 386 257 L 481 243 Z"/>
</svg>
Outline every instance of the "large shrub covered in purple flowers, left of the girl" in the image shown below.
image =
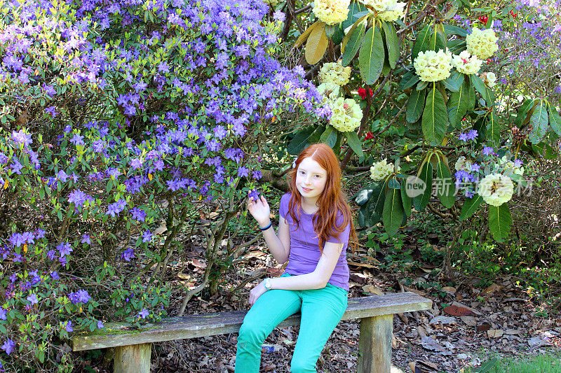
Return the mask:
<svg viewBox="0 0 561 373">
<path fill-rule="evenodd" d="M 256 144 L 290 132 L 276 118 L 324 111 L 304 70 L 272 57 L 267 13 L 259 0 L 131 0 L 0 15 L 2 366 L 70 370 L 69 333 L 165 315 L 168 261 L 200 211 L 220 218 L 189 297 L 231 265 L 239 247 L 220 244 L 262 178 Z"/>
</svg>

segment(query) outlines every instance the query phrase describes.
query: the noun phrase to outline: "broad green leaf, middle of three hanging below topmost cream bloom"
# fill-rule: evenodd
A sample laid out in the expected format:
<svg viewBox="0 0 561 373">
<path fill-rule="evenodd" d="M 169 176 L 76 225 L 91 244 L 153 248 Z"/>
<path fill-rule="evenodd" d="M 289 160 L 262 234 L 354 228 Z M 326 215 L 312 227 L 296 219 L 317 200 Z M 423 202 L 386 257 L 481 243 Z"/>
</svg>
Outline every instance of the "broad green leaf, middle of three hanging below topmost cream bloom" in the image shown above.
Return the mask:
<svg viewBox="0 0 561 373">
<path fill-rule="evenodd" d="M 378 26 L 370 27 L 364 36 L 363 46 L 358 52 L 360 75 L 366 84 L 374 84 L 384 67 L 384 42 Z"/>
</svg>

